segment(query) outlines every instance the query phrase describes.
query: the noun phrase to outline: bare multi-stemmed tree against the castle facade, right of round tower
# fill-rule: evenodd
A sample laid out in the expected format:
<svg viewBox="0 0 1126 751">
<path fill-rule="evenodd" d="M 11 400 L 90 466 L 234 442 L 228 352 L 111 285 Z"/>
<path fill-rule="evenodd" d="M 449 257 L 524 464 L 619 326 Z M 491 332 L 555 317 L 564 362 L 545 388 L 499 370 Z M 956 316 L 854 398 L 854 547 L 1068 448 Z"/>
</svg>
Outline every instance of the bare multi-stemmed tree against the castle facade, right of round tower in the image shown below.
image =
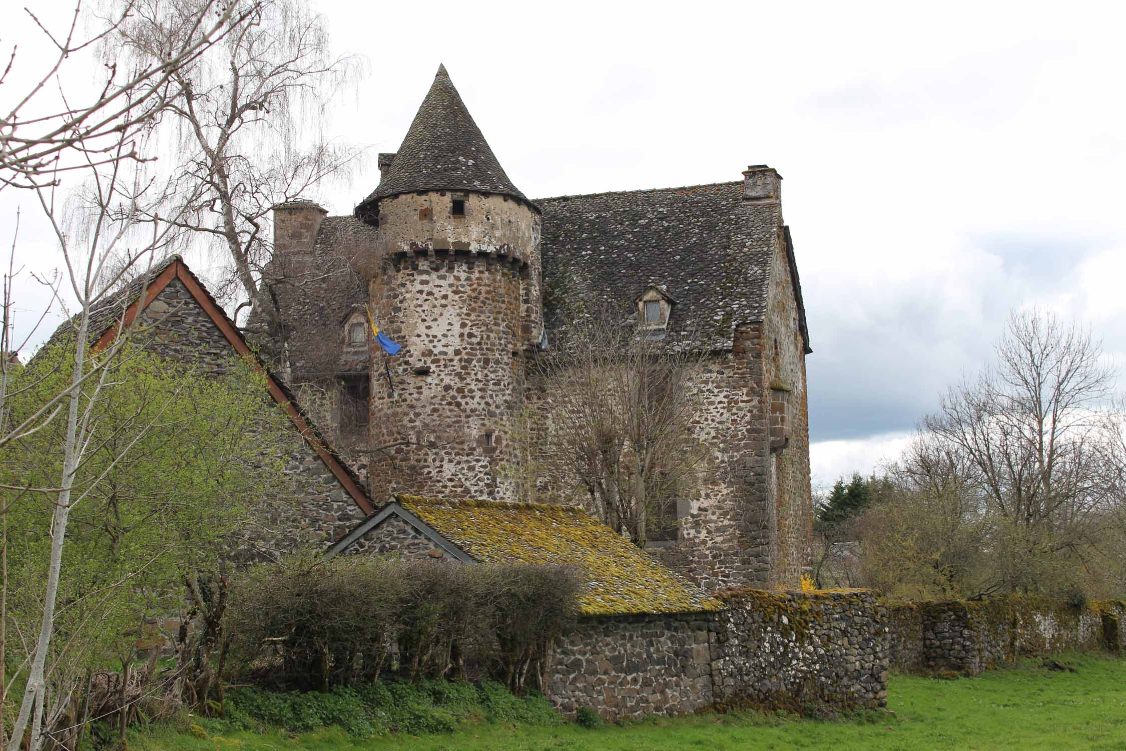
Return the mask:
<svg viewBox="0 0 1126 751">
<path fill-rule="evenodd" d="M 706 481 L 692 376 L 707 352 L 690 341 L 607 313 L 566 332 L 531 368 L 524 432 L 538 439 L 524 461 L 553 479 L 552 492 L 583 497 L 638 546 Z"/>
</svg>

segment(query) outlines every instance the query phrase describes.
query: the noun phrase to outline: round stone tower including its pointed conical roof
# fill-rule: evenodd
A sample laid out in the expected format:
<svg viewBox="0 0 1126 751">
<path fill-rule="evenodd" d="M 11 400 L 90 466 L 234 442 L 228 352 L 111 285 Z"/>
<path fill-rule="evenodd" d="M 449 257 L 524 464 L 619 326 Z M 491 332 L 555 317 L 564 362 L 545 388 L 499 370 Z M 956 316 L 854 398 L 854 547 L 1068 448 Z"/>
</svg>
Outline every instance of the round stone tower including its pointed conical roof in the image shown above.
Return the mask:
<svg viewBox="0 0 1126 751">
<path fill-rule="evenodd" d="M 372 495 L 518 500 L 509 490 L 524 355 L 543 337 L 539 209 L 508 179 L 445 66 L 381 181 L 361 266 L 372 341 Z"/>
</svg>

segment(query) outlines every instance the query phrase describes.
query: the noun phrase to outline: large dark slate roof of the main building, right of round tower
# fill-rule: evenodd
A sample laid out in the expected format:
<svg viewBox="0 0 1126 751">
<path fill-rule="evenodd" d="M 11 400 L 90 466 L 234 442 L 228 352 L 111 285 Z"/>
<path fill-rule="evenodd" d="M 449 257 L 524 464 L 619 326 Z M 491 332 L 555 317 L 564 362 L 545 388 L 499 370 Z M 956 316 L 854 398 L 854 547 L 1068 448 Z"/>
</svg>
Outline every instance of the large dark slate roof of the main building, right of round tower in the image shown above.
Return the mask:
<svg viewBox="0 0 1126 751">
<path fill-rule="evenodd" d="M 743 184 L 536 199 L 543 212 L 544 316 L 629 305 L 650 284 L 677 301 L 670 331 L 730 348 L 734 328 L 766 313 L 772 247 Z M 762 216 L 760 213 L 758 216 Z"/>
</svg>

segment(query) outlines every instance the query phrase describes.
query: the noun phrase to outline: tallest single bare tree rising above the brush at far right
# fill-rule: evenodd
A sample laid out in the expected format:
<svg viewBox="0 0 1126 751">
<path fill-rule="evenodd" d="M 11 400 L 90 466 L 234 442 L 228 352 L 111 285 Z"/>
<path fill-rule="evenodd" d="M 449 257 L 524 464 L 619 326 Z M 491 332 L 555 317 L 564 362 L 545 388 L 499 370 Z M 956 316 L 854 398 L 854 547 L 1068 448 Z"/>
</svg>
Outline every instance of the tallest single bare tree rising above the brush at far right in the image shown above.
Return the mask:
<svg viewBox="0 0 1126 751">
<path fill-rule="evenodd" d="M 1099 410 L 1115 368 L 1089 331 L 1035 310 L 1010 315 L 995 352 L 997 364 L 950 388 L 923 428 L 968 459 L 1003 517 L 1075 529 L 1106 500 Z"/>
</svg>

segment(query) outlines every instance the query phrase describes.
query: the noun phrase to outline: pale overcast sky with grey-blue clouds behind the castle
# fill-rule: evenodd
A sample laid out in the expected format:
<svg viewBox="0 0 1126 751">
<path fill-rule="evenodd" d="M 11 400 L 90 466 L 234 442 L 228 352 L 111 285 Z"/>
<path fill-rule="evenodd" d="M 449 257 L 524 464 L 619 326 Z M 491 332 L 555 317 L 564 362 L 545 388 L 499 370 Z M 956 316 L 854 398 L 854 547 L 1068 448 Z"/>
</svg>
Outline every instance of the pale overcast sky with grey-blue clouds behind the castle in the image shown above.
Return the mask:
<svg viewBox="0 0 1126 751">
<path fill-rule="evenodd" d="M 375 152 L 399 147 L 439 62 L 533 198 L 775 167 L 815 484 L 893 457 L 1012 307 L 1089 323 L 1126 365 L 1120 3 L 314 5 L 369 70 L 325 114 L 372 151 L 350 187 L 311 196 L 334 214 L 375 188 Z M 34 39 L 19 24 L 6 46 Z M 50 266 L 30 197 L 0 194 L 0 216 L 17 204 L 21 260 Z"/>
</svg>

